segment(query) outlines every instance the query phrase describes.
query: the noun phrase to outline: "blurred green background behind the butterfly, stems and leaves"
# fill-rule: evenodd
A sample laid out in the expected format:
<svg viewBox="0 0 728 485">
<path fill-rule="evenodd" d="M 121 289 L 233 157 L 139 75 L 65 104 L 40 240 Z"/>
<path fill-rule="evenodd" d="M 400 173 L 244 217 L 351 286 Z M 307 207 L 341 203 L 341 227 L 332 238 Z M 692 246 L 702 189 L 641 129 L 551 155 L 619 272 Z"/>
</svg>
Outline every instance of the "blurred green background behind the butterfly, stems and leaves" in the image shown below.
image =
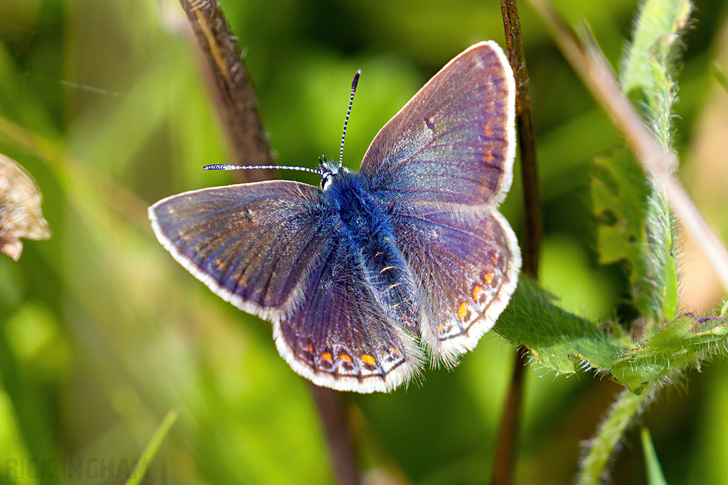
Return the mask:
<svg viewBox="0 0 728 485">
<path fill-rule="evenodd" d="M 494 1 L 221 1 L 247 52 L 280 164 L 336 156 L 349 86 L 362 69 L 344 163 L 470 44 L 503 44 Z M 625 313 L 620 265 L 600 267 L 587 190 L 593 156 L 620 144 L 534 11 L 521 26 L 537 136 L 542 281 L 571 311 Z M 628 0 L 561 0 L 618 65 L 636 12 Z M 728 239 L 728 4 L 696 1 L 679 73 L 683 178 Z M 0 483 L 120 484 L 170 409 L 180 413 L 143 483 L 327 484 L 325 437 L 306 382 L 278 356 L 270 324 L 213 295 L 173 261 L 146 207 L 231 183 L 186 17 L 173 1 L 0 1 L 0 153 L 35 177 L 53 237 L 0 255 Z M 300 172 L 282 176 L 317 183 Z M 523 231 L 518 169 L 503 212 Z M 691 245 L 684 307 L 722 291 Z M 391 395 L 349 396 L 368 483 L 488 481 L 513 348 L 494 334 L 454 371 Z M 529 366 L 516 478 L 571 483 L 618 387 Z M 643 417 L 670 484 L 728 484 L 728 365 L 673 386 Z M 644 483 L 638 433 L 615 484 Z"/>
</svg>

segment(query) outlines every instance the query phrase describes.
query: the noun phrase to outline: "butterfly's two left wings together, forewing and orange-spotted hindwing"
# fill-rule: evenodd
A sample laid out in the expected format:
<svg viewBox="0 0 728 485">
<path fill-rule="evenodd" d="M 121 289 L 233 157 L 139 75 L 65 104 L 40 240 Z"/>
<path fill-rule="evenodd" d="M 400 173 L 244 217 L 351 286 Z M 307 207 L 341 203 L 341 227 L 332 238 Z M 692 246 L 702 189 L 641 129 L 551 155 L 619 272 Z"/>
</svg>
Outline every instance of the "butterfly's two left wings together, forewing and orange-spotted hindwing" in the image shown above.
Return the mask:
<svg viewBox="0 0 728 485">
<path fill-rule="evenodd" d="M 366 286 L 321 194 L 288 181 L 229 185 L 169 197 L 149 217 L 190 273 L 273 322 L 298 374 L 339 390 L 391 390 L 416 373 L 421 351 Z"/>
</svg>

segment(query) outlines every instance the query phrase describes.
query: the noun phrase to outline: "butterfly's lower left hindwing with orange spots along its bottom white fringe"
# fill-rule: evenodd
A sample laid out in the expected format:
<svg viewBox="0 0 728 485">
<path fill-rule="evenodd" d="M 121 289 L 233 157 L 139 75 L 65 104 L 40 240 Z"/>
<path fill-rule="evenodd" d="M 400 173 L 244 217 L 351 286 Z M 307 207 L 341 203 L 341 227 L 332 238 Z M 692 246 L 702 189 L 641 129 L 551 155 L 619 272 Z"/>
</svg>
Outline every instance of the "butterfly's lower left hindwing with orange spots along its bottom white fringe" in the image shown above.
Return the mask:
<svg viewBox="0 0 728 485">
<path fill-rule="evenodd" d="M 274 324 L 273 333 L 283 358 L 314 384 L 388 391 L 419 372 L 422 350 L 365 284 L 361 262 L 337 239 L 309 278 L 306 301 Z"/>
</svg>

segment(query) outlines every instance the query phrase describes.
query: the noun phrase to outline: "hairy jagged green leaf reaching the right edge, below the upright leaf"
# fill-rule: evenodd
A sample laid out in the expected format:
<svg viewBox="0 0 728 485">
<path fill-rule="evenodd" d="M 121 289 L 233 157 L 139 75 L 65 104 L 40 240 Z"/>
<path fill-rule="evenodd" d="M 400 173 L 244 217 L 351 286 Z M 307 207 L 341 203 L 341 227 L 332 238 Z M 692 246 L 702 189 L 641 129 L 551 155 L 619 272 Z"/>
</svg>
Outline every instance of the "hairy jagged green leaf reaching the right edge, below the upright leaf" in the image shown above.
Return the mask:
<svg viewBox="0 0 728 485">
<path fill-rule="evenodd" d="M 683 315 L 617 359 L 612 374 L 623 385 L 638 389 L 673 369 L 700 366 L 705 358 L 725 353 L 727 345 L 728 319 Z"/>
</svg>

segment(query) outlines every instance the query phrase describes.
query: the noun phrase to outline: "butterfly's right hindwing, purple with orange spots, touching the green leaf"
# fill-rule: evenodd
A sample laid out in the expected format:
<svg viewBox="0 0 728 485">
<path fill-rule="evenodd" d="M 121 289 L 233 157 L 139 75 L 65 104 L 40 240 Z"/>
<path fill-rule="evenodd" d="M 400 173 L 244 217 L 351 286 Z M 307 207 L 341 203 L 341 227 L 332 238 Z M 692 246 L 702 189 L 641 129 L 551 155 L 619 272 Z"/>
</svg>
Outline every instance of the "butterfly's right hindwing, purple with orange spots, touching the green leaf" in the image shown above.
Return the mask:
<svg viewBox="0 0 728 485">
<path fill-rule="evenodd" d="M 433 361 L 454 365 L 507 305 L 518 283 L 521 255 L 499 212 L 429 206 L 397 212 L 393 225 L 419 278 L 422 340 Z"/>
</svg>

